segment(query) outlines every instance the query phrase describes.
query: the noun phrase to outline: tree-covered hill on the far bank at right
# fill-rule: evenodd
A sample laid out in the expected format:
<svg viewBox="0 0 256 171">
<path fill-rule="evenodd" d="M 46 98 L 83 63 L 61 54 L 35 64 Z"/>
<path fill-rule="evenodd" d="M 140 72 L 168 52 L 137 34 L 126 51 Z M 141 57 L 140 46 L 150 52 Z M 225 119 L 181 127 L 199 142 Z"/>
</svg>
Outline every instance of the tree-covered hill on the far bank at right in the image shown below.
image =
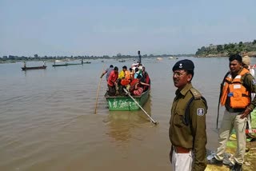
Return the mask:
<svg viewBox="0 0 256 171">
<path fill-rule="evenodd" d="M 238 42 L 224 45 L 202 46 L 195 53 L 197 57 L 227 57 L 230 54 L 247 53 L 250 57 L 256 57 L 256 40 L 253 42 Z"/>
</svg>

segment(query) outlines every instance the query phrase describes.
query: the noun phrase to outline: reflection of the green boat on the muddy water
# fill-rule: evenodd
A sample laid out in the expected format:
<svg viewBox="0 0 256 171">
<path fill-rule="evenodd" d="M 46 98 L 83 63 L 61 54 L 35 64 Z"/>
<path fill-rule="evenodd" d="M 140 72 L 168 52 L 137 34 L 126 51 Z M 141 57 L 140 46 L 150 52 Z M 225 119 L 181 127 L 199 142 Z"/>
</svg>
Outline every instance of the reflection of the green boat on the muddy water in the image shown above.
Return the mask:
<svg viewBox="0 0 256 171">
<path fill-rule="evenodd" d="M 151 97 L 142 108 L 151 115 Z M 147 123 L 152 124 L 141 109 L 138 111 L 110 111 L 108 119 L 109 132 L 106 134 L 112 137 L 114 141 L 119 142 L 129 141 L 136 128 Z"/>
</svg>

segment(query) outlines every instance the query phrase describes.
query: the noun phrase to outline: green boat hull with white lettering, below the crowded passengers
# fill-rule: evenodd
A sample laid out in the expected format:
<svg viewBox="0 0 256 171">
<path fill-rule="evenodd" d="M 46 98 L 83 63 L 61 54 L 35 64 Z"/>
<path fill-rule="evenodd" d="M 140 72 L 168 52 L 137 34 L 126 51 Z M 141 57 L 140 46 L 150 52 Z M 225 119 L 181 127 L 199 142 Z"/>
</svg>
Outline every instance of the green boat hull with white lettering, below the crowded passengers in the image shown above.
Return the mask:
<svg viewBox="0 0 256 171">
<path fill-rule="evenodd" d="M 111 97 L 108 95 L 108 93 L 105 93 L 105 97 L 110 111 L 132 111 L 140 109 L 140 107 L 128 95 Z M 143 106 L 150 97 L 150 89 L 143 92 L 140 96 L 133 97 L 139 105 Z"/>
</svg>

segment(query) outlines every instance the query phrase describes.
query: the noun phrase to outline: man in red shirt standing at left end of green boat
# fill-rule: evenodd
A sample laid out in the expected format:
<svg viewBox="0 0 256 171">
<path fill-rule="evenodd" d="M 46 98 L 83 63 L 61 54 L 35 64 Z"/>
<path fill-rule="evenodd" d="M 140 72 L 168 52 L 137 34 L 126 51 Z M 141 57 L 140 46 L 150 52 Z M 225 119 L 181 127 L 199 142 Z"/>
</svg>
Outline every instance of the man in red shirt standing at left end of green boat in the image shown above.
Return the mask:
<svg viewBox="0 0 256 171">
<path fill-rule="evenodd" d="M 117 93 L 116 86 L 118 85 L 118 67 L 114 66 L 114 70 L 111 71 L 110 77 L 107 80 L 107 86 L 109 88 L 109 95 L 114 96 Z"/>
</svg>

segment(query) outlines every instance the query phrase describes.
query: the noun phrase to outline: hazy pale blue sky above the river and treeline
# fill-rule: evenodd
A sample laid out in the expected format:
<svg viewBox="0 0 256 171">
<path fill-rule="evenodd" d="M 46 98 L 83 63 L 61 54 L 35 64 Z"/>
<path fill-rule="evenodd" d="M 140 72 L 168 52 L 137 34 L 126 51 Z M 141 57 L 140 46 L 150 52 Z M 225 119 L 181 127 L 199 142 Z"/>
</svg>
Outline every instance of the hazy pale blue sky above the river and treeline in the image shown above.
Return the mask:
<svg viewBox="0 0 256 171">
<path fill-rule="evenodd" d="M 0 0 L 0 57 L 194 54 L 256 39 L 255 0 Z"/>
</svg>

